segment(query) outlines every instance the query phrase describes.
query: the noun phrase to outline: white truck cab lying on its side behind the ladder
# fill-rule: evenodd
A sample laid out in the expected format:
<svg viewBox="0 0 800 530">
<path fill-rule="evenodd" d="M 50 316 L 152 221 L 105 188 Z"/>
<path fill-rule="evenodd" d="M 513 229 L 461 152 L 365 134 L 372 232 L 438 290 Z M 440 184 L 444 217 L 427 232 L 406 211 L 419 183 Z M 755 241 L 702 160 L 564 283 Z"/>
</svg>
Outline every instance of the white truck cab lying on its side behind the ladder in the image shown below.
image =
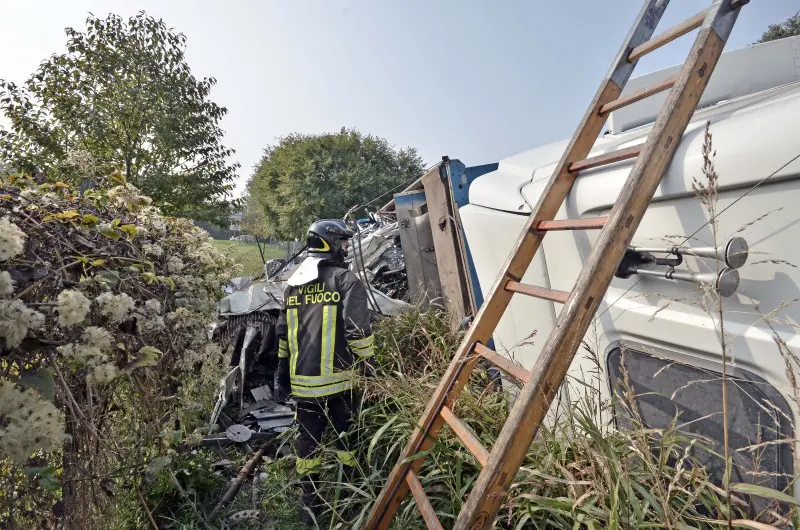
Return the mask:
<svg viewBox="0 0 800 530">
<path fill-rule="evenodd" d="M 677 68 L 632 79 L 623 94 Z M 612 113 L 608 132 L 590 156 L 644 142 L 665 98 Z M 719 175 L 716 230 L 694 190 L 695 180 L 706 182 L 706 122 Z M 469 204 L 459 215 L 483 293 L 494 284 L 567 142 L 502 160 L 471 183 Z M 582 172 L 556 219 L 608 215 L 632 165 L 628 160 Z M 522 281 L 570 291 L 597 233 L 548 233 Z M 719 298 L 730 378 L 732 479 L 785 490 L 800 471 L 793 447 L 800 418 L 800 37 L 722 55 L 632 245 L 724 248 L 734 237 L 747 242 L 749 255 L 736 269 L 738 288 Z M 725 266 L 684 256 L 675 270 L 713 276 Z M 581 381 L 595 376 L 609 398 L 624 359 L 646 424 L 663 428 L 678 415 L 685 430 L 718 443 L 721 452 L 723 347 L 709 285 L 643 274 L 614 278 L 584 337 L 587 348 L 571 366 L 562 405 L 582 392 Z M 515 296 L 493 336 L 495 349 L 530 369 L 560 308 Z M 721 461 L 710 458 L 708 465 L 721 477 Z M 795 494 L 800 498 L 800 487 Z"/>
</svg>

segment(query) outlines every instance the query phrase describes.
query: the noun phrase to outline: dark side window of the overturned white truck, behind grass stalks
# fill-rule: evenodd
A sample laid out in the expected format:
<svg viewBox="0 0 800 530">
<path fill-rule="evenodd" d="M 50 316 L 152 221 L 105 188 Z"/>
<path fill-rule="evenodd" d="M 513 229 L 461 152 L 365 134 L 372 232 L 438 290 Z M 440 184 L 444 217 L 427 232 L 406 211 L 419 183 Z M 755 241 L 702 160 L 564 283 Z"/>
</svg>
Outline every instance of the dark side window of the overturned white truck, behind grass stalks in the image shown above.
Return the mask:
<svg viewBox="0 0 800 530">
<path fill-rule="evenodd" d="M 608 374 L 616 398 L 615 416 L 620 429 L 632 425 L 628 408 L 619 404 L 630 382 L 636 409 L 646 428 L 666 429 L 673 422 L 685 433 L 698 435 L 723 454 L 722 375 L 691 364 L 624 347 L 608 355 Z M 624 367 L 627 375 L 623 372 Z M 739 370 L 728 378 L 728 437 L 733 458 L 732 482 L 748 482 L 784 491 L 793 477 L 791 409 L 774 387 Z M 677 417 L 677 420 L 675 418 Z M 738 449 L 759 445 L 757 450 Z M 722 483 L 724 460 L 695 448 L 713 482 Z M 762 500 L 751 498 L 753 508 Z"/>
</svg>

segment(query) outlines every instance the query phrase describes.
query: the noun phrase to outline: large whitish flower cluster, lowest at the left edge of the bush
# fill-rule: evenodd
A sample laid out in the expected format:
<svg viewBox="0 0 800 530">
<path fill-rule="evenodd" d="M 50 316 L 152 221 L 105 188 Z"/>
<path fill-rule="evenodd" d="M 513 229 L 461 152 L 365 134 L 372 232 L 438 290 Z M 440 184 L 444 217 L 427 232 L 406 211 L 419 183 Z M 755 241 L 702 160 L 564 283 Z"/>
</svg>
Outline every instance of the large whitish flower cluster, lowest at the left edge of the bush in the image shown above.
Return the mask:
<svg viewBox="0 0 800 530">
<path fill-rule="evenodd" d="M 64 421 L 51 402 L 0 379 L 0 457 L 23 464 L 37 451 L 57 451 L 65 438 Z"/>
</svg>

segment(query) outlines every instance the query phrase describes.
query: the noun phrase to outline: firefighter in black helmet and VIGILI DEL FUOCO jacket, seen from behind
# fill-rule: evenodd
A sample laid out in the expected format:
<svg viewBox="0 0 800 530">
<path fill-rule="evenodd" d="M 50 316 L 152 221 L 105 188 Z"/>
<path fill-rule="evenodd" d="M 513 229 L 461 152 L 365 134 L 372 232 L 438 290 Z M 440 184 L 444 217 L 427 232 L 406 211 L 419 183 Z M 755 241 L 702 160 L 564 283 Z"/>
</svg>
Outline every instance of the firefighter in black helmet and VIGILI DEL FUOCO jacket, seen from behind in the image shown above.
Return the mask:
<svg viewBox="0 0 800 530">
<path fill-rule="evenodd" d="M 291 391 L 297 402 L 297 472 L 301 477 L 304 521 L 318 516 L 322 501 L 315 483 L 321 463 L 320 442 L 330 424 L 336 455 L 346 474 L 355 464 L 354 382 L 373 375 L 375 339 L 370 328 L 367 290 L 347 269 L 353 232 L 339 220 L 320 220 L 308 229 L 308 255 L 287 281 L 277 326 L 278 400 Z"/>
</svg>

